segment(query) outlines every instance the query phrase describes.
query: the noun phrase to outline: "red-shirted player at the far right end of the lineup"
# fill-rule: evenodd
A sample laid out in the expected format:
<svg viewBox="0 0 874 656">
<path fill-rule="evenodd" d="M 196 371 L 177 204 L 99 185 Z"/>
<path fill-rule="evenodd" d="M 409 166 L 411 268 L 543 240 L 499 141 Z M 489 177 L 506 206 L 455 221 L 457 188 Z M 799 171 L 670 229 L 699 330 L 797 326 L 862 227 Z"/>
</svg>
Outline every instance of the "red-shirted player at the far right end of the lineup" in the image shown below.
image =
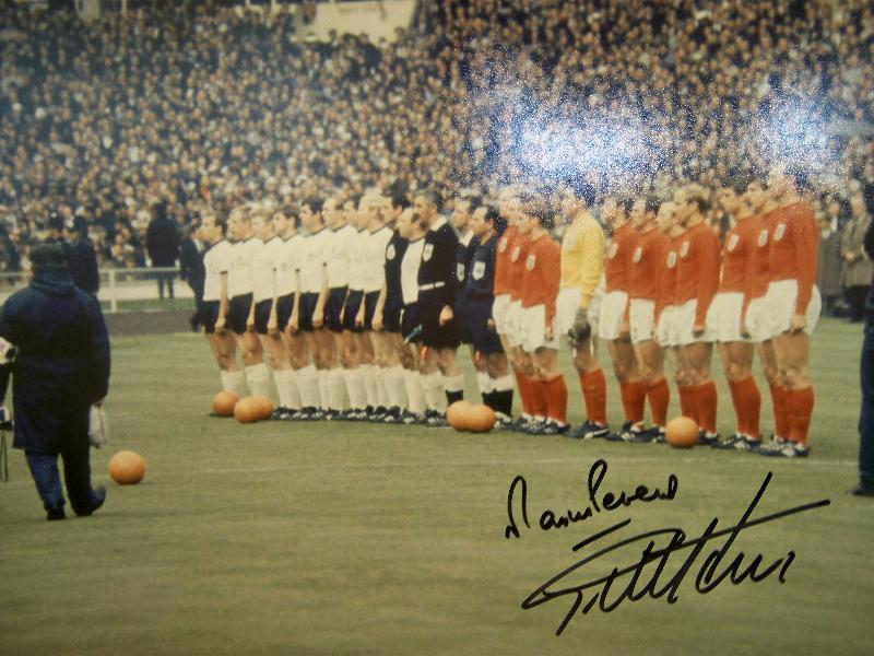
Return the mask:
<svg viewBox="0 0 874 656">
<path fill-rule="evenodd" d="M 786 441 L 775 438 L 763 445 L 758 453 L 805 457 L 810 453 L 807 431 L 814 406 L 814 390 L 807 373 L 810 336 L 822 309 L 819 291 L 814 284 L 819 234 L 813 208 L 802 197 L 807 190 L 803 174 L 773 171 L 768 188 L 777 209 L 771 216 L 770 283 L 765 305 L 778 378 L 786 389 L 789 434 Z"/>
</svg>

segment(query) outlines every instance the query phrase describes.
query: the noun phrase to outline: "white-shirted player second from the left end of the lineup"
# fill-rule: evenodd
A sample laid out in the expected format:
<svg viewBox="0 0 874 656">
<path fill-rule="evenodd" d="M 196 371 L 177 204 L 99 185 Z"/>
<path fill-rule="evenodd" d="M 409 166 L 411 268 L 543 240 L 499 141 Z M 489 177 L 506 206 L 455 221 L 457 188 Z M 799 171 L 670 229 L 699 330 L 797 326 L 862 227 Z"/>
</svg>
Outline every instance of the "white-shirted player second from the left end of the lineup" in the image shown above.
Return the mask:
<svg viewBox="0 0 874 656">
<path fill-rule="evenodd" d="M 262 243 L 252 235 L 249 208 L 240 206 L 231 211 L 227 233 L 233 243 L 233 259 L 227 272 L 228 301 L 226 306 L 218 308 L 215 331 L 221 333 L 225 328 L 229 328 L 234 332 L 237 348 L 243 356 L 249 391 L 253 396 L 270 396 L 270 372 L 263 362 L 261 342 L 255 335 L 255 321 L 251 316 L 252 261 Z"/>
</svg>

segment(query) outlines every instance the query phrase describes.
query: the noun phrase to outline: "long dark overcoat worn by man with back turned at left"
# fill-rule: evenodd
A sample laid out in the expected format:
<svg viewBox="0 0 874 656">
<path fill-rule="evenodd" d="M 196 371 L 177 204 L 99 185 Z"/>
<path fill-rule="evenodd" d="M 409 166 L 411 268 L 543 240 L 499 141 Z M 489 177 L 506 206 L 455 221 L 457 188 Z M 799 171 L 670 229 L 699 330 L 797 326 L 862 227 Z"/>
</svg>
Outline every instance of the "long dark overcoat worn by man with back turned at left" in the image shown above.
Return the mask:
<svg viewBox="0 0 874 656">
<path fill-rule="evenodd" d="M 88 410 L 109 387 L 109 337 L 97 301 L 69 274 L 39 274 L 0 308 L 0 337 L 17 347 L 12 375 L 15 448 L 57 454 L 87 442 Z"/>
</svg>

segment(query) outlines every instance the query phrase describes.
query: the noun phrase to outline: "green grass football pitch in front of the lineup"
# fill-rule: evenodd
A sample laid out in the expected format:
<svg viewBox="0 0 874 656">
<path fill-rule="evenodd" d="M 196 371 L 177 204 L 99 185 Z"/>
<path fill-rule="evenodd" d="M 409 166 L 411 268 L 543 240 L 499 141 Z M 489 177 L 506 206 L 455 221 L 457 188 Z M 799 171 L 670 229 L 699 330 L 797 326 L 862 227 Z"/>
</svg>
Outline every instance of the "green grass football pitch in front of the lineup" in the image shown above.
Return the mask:
<svg viewBox="0 0 874 656">
<path fill-rule="evenodd" d="M 108 488 L 104 508 L 46 522 L 22 454 L 10 453 L 0 654 L 870 654 L 874 501 L 847 494 L 857 482 L 861 340 L 859 326 L 817 329 L 813 449 L 794 461 L 507 432 L 241 425 L 208 417 L 218 375 L 201 336 L 114 339 L 110 444 L 92 456 Z M 731 401 L 716 360 L 725 435 Z M 578 423 L 579 382 L 567 353 L 562 361 Z M 757 377 L 768 433 L 770 397 Z M 613 383 L 609 409 L 615 425 Z M 120 449 L 147 460 L 141 484 L 108 479 Z M 598 459 L 607 469 L 590 495 Z M 518 475 L 524 516 L 521 483 L 508 509 Z M 607 509 L 607 493 L 630 496 L 638 485 L 673 499 Z M 779 516 L 823 500 L 830 504 Z M 579 520 L 543 529 L 547 511 Z M 718 532 L 743 517 L 753 525 L 705 541 L 708 526 Z M 630 573 L 605 589 L 614 567 L 640 561 L 642 534 L 669 528 L 685 534 L 656 535 L 657 549 L 672 537 L 692 544 L 640 565 L 624 601 Z M 721 561 L 710 557 L 720 550 Z M 732 562 L 743 581 L 714 585 Z M 638 595 L 650 581 L 661 595 Z"/>
</svg>

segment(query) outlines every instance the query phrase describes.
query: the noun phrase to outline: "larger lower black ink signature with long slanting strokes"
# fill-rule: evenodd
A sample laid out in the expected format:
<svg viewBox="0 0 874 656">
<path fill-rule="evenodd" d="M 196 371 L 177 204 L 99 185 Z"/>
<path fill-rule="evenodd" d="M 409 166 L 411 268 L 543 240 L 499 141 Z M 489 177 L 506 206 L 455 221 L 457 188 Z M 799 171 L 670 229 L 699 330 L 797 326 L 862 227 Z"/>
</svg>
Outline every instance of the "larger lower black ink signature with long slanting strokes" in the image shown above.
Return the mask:
<svg viewBox="0 0 874 656">
<path fill-rule="evenodd" d="M 524 601 L 522 601 L 522 608 L 529 610 L 540 606 L 541 604 L 546 604 L 547 601 L 552 601 L 560 597 L 571 596 L 574 601 L 570 610 L 567 612 L 564 620 L 559 624 L 558 630 L 555 632 L 556 635 L 560 635 L 570 619 L 582 606 L 583 590 L 588 590 L 590 588 L 600 589 L 597 589 L 594 594 L 586 601 L 586 605 L 582 606 L 583 613 L 588 613 L 590 610 L 592 610 L 595 604 L 603 612 L 612 612 L 616 610 L 616 608 L 618 608 L 619 605 L 626 599 L 628 601 L 640 601 L 647 595 L 653 599 L 665 597 L 669 604 L 674 604 L 680 597 L 680 585 L 683 583 L 686 574 L 688 574 L 689 570 L 693 567 L 695 560 L 698 558 L 701 551 L 704 551 L 707 542 L 724 536 L 728 536 L 725 543 L 720 549 L 714 549 L 711 551 L 698 570 L 698 574 L 695 577 L 695 588 L 699 594 L 706 595 L 707 593 L 712 591 L 725 579 L 730 581 L 733 585 L 740 585 L 747 578 L 752 583 L 759 583 L 778 570 L 778 579 L 780 583 L 784 583 L 786 573 L 795 559 L 794 551 L 789 551 L 784 557 L 777 559 L 764 570 L 759 570 L 764 560 L 760 553 L 756 554 L 756 557 L 748 564 L 745 564 L 745 555 L 743 551 L 741 551 L 734 557 L 731 563 L 725 565 L 723 570 L 717 572 L 717 569 L 722 563 L 722 560 L 727 558 L 727 553 L 729 552 L 732 543 L 742 530 L 752 526 L 775 522 L 776 519 L 780 519 L 781 517 L 786 517 L 788 515 L 794 515 L 811 511 L 816 507 L 826 506 L 830 503 L 829 500 L 824 499 L 749 520 L 753 509 L 756 507 L 759 500 L 765 494 L 765 490 L 768 488 L 771 476 L 771 472 L 768 472 L 768 476 L 765 477 L 765 481 L 761 483 L 761 487 L 758 489 L 758 492 L 756 493 L 752 503 L 746 508 L 746 512 L 744 512 L 741 520 L 736 525 L 721 530 L 716 530 L 716 527 L 719 524 L 719 518 L 714 517 L 704 530 L 701 536 L 693 540 L 686 539 L 686 532 L 682 528 L 662 528 L 626 538 L 611 547 L 605 547 L 600 551 L 583 558 L 559 574 L 556 574 L 550 578 L 546 583 L 531 593 Z M 584 547 L 599 541 L 604 536 L 624 528 L 630 524 L 630 519 L 625 519 L 624 522 L 614 524 L 597 535 L 582 540 L 574 547 L 574 551 L 579 551 Z M 670 541 L 666 547 L 657 549 L 654 539 L 662 537 L 670 538 Z M 571 573 L 579 573 L 583 565 L 587 565 L 604 554 L 615 551 L 616 549 L 641 541 L 646 541 L 647 544 L 640 554 L 640 559 L 634 564 L 623 569 L 613 567 L 609 574 L 598 576 L 597 578 L 586 581 L 581 584 L 568 587 L 558 587 L 558 584 L 564 578 L 569 576 Z M 671 576 L 670 579 L 666 582 L 660 582 L 659 578 L 665 565 L 668 564 L 668 560 L 670 559 L 671 554 L 682 549 L 692 549 L 692 552 L 686 557 L 686 560 L 683 562 L 680 570 L 673 576 Z M 643 569 L 652 563 L 657 563 L 656 571 L 649 576 L 648 581 L 645 581 Z M 630 579 L 628 579 L 627 583 L 624 581 L 622 583 L 619 582 L 621 578 L 628 575 L 630 575 Z M 622 591 L 617 594 L 614 593 L 616 595 L 615 598 L 610 600 L 609 595 L 611 594 L 614 585 L 625 585 L 625 587 L 622 589 Z M 660 585 L 661 587 L 659 587 Z"/>
</svg>

